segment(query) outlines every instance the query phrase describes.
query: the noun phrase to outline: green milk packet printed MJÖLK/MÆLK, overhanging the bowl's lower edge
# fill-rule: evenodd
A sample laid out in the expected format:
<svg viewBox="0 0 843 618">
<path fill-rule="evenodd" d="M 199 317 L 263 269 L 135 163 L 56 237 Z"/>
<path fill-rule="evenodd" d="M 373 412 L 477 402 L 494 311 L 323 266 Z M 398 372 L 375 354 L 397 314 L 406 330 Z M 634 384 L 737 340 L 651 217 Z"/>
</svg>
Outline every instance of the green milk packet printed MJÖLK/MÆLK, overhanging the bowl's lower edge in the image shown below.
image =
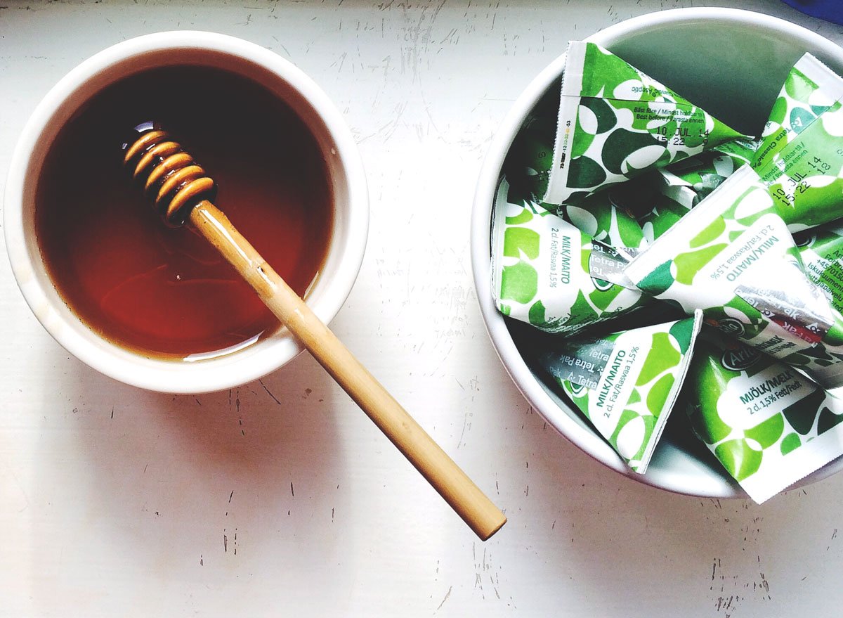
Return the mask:
<svg viewBox="0 0 843 618">
<path fill-rule="evenodd" d="M 756 502 L 843 454 L 843 401 L 716 331 L 703 329 L 685 393 L 691 429 Z"/>
</svg>

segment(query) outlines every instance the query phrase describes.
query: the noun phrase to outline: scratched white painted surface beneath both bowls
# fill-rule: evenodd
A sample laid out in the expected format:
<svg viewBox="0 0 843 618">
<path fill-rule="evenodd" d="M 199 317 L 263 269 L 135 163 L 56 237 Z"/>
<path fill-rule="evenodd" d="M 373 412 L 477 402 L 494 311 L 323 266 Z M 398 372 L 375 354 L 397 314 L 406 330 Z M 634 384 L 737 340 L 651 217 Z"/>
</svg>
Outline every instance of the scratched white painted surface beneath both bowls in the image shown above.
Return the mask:
<svg viewBox="0 0 843 618">
<path fill-rule="evenodd" d="M 843 476 L 763 506 L 622 478 L 529 408 L 476 306 L 470 203 L 514 98 L 571 38 L 706 5 L 843 43 L 777 0 L 0 3 L 0 183 L 46 90 L 134 35 L 237 35 L 327 91 L 371 192 L 333 327 L 509 518 L 476 540 L 307 355 L 200 397 L 100 376 L 3 259 L 0 615 L 840 615 Z"/>
</svg>

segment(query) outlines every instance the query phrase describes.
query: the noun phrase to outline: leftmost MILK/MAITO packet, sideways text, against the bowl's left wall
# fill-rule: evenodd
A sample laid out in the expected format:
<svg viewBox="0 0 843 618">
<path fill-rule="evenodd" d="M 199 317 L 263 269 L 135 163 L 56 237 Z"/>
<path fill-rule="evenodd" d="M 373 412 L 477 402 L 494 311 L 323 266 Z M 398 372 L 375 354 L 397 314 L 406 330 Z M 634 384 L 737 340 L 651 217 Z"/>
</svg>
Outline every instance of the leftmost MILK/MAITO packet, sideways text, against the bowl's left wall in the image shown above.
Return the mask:
<svg viewBox="0 0 843 618">
<path fill-rule="evenodd" d="M 549 333 L 573 333 L 649 302 L 623 277 L 626 259 L 510 195 L 506 181 L 492 213 L 491 289 L 504 315 Z"/>
</svg>

